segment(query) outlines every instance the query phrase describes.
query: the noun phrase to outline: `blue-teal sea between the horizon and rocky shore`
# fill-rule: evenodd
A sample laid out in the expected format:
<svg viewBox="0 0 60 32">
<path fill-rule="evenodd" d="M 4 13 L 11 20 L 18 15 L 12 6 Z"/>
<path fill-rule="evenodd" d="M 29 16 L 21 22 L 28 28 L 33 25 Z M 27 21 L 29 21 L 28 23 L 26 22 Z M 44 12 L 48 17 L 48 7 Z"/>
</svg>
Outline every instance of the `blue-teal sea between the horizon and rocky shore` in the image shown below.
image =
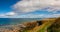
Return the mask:
<svg viewBox="0 0 60 32">
<path fill-rule="evenodd" d="M 0 26 L 15 25 L 32 20 L 41 20 L 42 18 L 0 18 Z"/>
</svg>

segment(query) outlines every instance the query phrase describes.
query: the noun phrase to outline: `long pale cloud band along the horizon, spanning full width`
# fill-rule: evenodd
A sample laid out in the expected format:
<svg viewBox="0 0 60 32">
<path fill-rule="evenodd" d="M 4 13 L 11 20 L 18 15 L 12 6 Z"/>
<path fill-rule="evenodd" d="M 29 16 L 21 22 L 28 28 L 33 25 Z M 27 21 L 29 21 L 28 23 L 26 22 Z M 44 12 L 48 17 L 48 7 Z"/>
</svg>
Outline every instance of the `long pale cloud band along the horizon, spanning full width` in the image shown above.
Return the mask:
<svg viewBox="0 0 60 32">
<path fill-rule="evenodd" d="M 10 13 L 10 12 L 9 12 Z M 8 13 L 8 14 L 9 14 Z M 21 14 L 21 15 L 6 15 L 0 14 L 0 18 L 55 18 L 60 17 L 60 14 Z"/>
</svg>

